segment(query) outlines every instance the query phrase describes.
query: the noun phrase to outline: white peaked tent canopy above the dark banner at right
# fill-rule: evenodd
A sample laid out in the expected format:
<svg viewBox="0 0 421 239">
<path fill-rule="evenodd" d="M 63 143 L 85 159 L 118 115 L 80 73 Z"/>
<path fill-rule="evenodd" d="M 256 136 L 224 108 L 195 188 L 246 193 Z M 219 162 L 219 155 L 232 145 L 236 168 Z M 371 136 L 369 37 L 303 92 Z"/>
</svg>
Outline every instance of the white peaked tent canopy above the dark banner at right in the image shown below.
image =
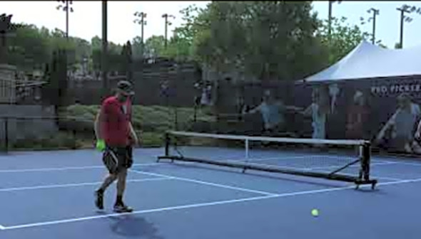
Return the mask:
<svg viewBox="0 0 421 239">
<path fill-rule="evenodd" d="M 421 46 L 386 49 L 362 41 L 348 55 L 305 82 L 421 75 Z"/>
</svg>

